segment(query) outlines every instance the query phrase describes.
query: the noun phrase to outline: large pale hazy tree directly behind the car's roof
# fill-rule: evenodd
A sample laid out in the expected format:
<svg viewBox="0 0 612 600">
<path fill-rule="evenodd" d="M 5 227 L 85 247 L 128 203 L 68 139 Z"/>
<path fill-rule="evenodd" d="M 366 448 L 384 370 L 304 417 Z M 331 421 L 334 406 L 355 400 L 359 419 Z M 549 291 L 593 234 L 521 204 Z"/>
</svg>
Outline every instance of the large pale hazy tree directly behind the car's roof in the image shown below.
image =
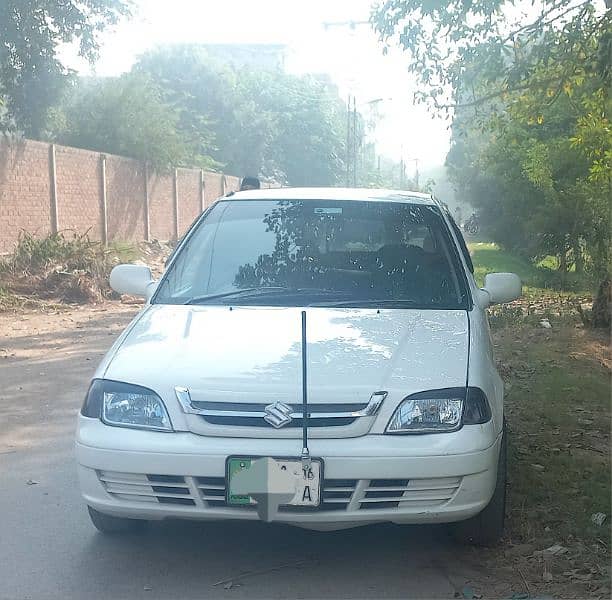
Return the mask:
<svg viewBox="0 0 612 600">
<path fill-rule="evenodd" d="M 180 107 L 183 131 L 212 133 L 211 155 L 227 171 L 292 185 L 344 180 L 346 108 L 328 80 L 235 68 L 197 45 L 147 53 L 135 70 Z"/>
</svg>

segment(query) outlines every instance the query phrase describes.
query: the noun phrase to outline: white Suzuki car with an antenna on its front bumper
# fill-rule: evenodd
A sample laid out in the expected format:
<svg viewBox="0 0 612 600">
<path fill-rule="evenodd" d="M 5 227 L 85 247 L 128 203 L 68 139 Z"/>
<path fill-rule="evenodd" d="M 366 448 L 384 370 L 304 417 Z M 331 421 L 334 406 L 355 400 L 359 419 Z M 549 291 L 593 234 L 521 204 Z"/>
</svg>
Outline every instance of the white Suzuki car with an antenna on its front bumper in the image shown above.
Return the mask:
<svg viewBox="0 0 612 600">
<path fill-rule="evenodd" d="M 80 486 L 103 532 L 148 520 L 328 530 L 453 523 L 503 532 L 503 384 L 484 288 L 429 195 L 274 189 L 220 198 L 159 282 L 111 274 L 144 309 L 78 420 Z"/>
</svg>

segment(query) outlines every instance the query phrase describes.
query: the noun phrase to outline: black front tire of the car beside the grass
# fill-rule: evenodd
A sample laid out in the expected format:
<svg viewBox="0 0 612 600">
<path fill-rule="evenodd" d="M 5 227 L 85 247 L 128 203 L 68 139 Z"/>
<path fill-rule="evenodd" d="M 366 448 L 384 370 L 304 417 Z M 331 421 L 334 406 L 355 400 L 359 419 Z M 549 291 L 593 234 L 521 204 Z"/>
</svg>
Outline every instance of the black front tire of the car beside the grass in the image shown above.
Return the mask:
<svg viewBox="0 0 612 600">
<path fill-rule="evenodd" d="M 504 423 L 495 491 L 489 504 L 476 516 L 450 525 L 451 535 L 461 544 L 494 546 L 504 534 L 506 518 L 506 455 L 507 432 Z"/>
</svg>

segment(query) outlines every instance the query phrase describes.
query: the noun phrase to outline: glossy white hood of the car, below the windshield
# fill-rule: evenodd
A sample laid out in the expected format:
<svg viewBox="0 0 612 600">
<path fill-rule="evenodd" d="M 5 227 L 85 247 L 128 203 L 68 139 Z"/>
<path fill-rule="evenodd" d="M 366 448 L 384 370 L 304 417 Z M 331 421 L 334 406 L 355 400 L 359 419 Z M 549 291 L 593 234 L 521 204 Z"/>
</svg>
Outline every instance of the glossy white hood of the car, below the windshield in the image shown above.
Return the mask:
<svg viewBox="0 0 612 600">
<path fill-rule="evenodd" d="M 101 367 L 104 377 L 208 400 L 301 401 L 301 310 L 152 305 Z M 465 385 L 461 310 L 308 308 L 311 402 L 367 402 Z"/>
</svg>

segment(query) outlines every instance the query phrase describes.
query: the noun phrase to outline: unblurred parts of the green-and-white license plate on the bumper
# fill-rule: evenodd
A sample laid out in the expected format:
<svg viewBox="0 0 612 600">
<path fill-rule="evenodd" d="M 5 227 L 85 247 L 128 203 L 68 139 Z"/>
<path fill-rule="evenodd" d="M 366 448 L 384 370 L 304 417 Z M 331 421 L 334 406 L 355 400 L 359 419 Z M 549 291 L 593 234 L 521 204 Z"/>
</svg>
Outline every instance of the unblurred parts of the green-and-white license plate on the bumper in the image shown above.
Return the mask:
<svg viewBox="0 0 612 600">
<path fill-rule="evenodd" d="M 248 506 L 257 504 L 257 501 L 250 495 L 236 493 L 235 481 L 237 473 L 248 470 L 257 460 L 255 457 L 231 456 L 226 463 L 226 501 L 233 506 Z M 310 472 L 304 473 L 302 460 L 299 458 L 275 458 L 276 466 L 287 476 L 286 482 L 291 490 L 295 490 L 293 498 L 283 502 L 284 506 L 310 506 L 317 507 L 321 501 L 321 472 L 323 461 L 312 459 Z M 265 490 L 266 482 L 260 482 L 260 489 Z"/>
</svg>

